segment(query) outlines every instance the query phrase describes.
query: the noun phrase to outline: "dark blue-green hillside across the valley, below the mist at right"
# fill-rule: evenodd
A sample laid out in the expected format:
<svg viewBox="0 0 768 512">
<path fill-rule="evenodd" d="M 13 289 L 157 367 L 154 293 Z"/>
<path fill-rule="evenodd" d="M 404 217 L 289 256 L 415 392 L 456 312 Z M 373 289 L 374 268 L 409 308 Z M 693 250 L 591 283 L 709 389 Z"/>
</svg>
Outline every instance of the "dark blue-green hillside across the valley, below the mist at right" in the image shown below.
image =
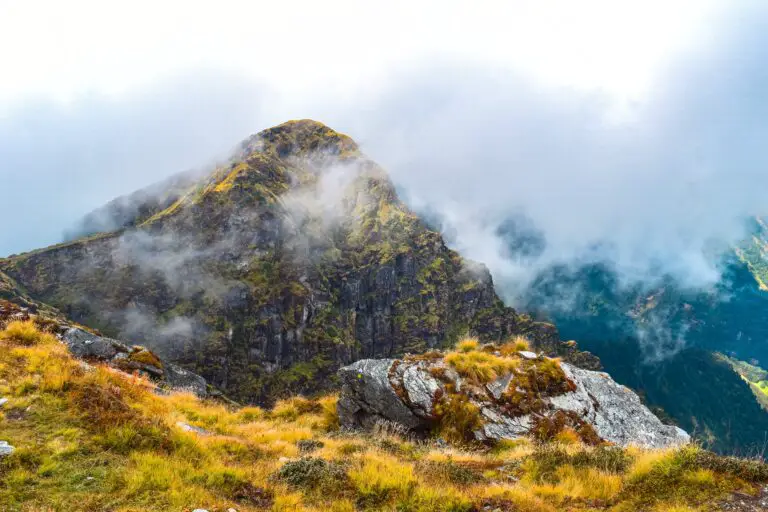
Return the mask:
<svg viewBox="0 0 768 512">
<path fill-rule="evenodd" d="M 672 278 L 627 286 L 608 265 L 553 267 L 533 283 L 526 309 L 579 340 L 613 378 L 707 446 L 756 453 L 768 413 L 718 356 L 768 360 L 768 293 L 750 268 L 728 253 L 718 283 L 688 290 Z M 558 308 L 563 296 L 578 307 Z"/>
</svg>

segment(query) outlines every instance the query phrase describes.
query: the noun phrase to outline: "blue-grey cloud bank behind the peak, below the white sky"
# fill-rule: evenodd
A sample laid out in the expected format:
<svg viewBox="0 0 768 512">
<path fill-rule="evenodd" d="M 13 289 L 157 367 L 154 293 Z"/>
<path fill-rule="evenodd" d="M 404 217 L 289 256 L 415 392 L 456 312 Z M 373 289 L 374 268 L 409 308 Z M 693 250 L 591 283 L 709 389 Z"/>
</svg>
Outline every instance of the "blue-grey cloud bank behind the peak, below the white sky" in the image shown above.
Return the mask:
<svg viewBox="0 0 768 512">
<path fill-rule="evenodd" d="M 761 91 L 768 76 L 761 63 L 768 16 L 751 4 L 740 14 L 747 11 L 720 20 L 716 41 L 668 63 L 634 103 L 542 86 L 477 62 L 433 59 L 396 70 L 376 94 L 343 101 L 322 91 L 280 98 L 268 86 L 202 71 L 183 82 L 204 85 L 173 95 L 170 107 L 167 91 L 179 90 L 182 80 L 149 88 L 132 103 L 86 98 L 63 120 L 45 107 L 20 109 L 0 121 L 10 135 L 0 143 L 3 176 L 15 188 L 34 177 L 36 200 L 50 211 L 34 213 L 24 226 L 40 237 L 11 230 L 0 252 L 58 241 L 51 233 L 69 228 L 76 212 L 116 195 L 113 182 L 138 188 L 183 171 L 190 155 L 201 163 L 203 154 L 221 155 L 248 131 L 312 117 L 357 140 L 416 210 L 438 220 L 451 245 L 488 265 L 510 301 L 553 263 L 600 261 L 628 283 L 671 274 L 686 286 L 707 287 L 719 276 L 709 248 L 740 240 L 744 219 L 765 210 L 768 103 Z M 192 109 L 200 114 L 190 118 L 188 109 L 202 101 L 225 108 Z M 106 122 L 104 105 L 114 107 L 107 115 L 135 122 Z M 149 140 L 156 120 L 162 122 L 149 132 L 151 144 L 121 150 L 126 141 Z M 31 121 L 42 148 L 53 151 L 19 143 Z M 63 140 L 55 137 L 62 125 Z M 56 142 L 46 146 L 48 140 Z M 95 140 L 95 158 L 73 156 Z M 138 178 L 122 177 L 133 169 Z M 67 172 L 78 182 L 99 177 L 87 200 L 62 201 L 82 188 L 62 179 Z M 56 179 L 48 183 L 50 176 Z M 54 213 L 64 207 L 68 215 Z M 12 198 L 3 209 L 19 204 Z M 534 253 L 510 251 L 510 218 L 523 220 Z"/>
</svg>

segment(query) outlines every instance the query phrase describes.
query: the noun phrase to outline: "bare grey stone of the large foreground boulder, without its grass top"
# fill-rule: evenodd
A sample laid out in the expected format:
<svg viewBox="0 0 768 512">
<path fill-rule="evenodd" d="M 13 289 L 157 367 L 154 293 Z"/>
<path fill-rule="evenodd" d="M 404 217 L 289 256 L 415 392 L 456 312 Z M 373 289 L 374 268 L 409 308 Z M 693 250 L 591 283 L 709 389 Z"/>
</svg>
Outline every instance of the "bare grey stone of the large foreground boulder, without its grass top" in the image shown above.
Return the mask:
<svg viewBox="0 0 768 512">
<path fill-rule="evenodd" d="M 519 393 L 533 391 L 521 389 L 515 373 L 478 387 L 460 377 L 441 358 L 365 359 L 339 370 L 343 382 L 339 419 L 347 428 L 370 428 L 385 420 L 425 433 L 438 426 L 439 404 L 454 392 L 479 411 L 479 422 L 471 432 L 476 441 L 533 435 L 541 424 L 554 423 L 558 417 L 569 418 L 573 425 L 589 425 L 600 439 L 620 446 L 665 448 L 690 441 L 682 429 L 662 424 L 635 393 L 608 374 L 567 363 L 560 367 L 572 390 L 537 396 L 534 410 L 521 411 L 510 407 L 511 400 L 520 400 Z M 510 395 L 510 390 L 518 394 Z M 534 403 L 525 397 L 522 401 Z"/>
</svg>

